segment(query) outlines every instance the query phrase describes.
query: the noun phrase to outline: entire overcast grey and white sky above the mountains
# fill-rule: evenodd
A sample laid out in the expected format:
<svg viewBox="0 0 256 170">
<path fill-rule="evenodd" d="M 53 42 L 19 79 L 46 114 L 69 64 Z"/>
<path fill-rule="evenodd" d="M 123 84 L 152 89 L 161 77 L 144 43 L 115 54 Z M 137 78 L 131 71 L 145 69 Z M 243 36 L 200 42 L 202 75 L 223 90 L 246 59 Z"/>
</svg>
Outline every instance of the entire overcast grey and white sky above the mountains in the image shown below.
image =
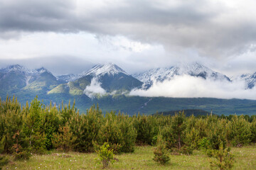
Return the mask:
<svg viewBox="0 0 256 170">
<path fill-rule="evenodd" d="M 255 0 L 0 0 L 0 67 L 78 73 L 114 62 L 129 74 L 201 62 L 256 72 Z"/>
</svg>

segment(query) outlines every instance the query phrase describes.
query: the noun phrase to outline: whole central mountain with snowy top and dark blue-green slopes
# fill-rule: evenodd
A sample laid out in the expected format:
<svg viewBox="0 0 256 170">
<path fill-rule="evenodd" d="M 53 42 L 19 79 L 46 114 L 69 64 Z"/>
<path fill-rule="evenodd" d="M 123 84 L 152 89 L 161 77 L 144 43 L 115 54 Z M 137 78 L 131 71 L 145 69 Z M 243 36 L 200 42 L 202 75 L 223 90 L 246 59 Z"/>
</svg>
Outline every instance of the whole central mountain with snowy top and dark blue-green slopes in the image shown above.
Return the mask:
<svg viewBox="0 0 256 170">
<path fill-rule="evenodd" d="M 65 86 L 57 86 L 49 91 L 49 94 L 63 93 L 67 90 L 72 95 L 88 94 L 87 92 L 89 94 L 97 94 L 97 89 L 102 89 L 105 93 L 122 93 L 142 86 L 141 81 L 112 63 L 96 65 L 77 77 L 80 78 L 75 81 L 69 81 Z M 92 84 L 92 80 L 94 80 L 94 84 Z M 87 86 L 90 86 L 90 89 L 86 88 Z"/>
</svg>

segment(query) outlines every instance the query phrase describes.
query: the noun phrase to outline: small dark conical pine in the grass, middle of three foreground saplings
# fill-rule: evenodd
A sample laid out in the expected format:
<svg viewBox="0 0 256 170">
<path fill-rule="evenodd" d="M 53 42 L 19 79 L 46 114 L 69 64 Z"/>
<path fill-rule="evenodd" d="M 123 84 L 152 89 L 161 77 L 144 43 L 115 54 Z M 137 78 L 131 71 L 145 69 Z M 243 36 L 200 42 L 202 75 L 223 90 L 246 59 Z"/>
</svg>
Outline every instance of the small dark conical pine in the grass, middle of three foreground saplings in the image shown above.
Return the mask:
<svg viewBox="0 0 256 170">
<path fill-rule="evenodd" d="M 170 157 L 168 156 L 168 150 L 166 149 L 166 144 L 163 140 L 163 137 L 159 135 L 157 138 L 157 147 L 154 148 L 153 160 L 164 165 L 169 162 Z"/>
</svg>

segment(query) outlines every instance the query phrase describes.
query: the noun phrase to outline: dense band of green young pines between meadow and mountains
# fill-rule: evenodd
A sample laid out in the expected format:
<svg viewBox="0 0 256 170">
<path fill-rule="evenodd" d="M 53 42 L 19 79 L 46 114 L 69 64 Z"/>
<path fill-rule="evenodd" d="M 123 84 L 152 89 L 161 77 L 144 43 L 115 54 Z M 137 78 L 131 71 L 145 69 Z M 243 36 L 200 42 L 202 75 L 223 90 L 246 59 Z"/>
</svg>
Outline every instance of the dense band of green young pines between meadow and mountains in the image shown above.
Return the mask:
<svg viewBox="0 0 256 170">
<path fill-rule="evenodd" d="M 129 104 L 129 103 L 127 103 Z M 167 149 L 191 154 L 193 149 L 241 147 L 256 142 L 256 116 L 186 117 L 124 113 L 103 114 L 99 106 L 80 113 L 73 105 L 38 98 L 21 106 L 17 98 L 0 100 L 0 145 L 4 154 L 26 159 L 50 149 L 95 152 L 107 142 L 115 153 L 134 152 L 135 145 L 156 145 L 161 135 Z"/>
</svg>

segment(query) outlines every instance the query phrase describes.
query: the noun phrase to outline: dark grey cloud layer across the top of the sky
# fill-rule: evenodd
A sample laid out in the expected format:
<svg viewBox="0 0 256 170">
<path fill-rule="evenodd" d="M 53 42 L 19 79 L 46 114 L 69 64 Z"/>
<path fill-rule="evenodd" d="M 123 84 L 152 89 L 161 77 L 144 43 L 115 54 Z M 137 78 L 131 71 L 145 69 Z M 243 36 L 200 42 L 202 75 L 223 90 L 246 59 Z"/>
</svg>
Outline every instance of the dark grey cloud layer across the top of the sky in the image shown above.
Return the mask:
<svg viewBox="0 0 256 170">
<path fill-rule="evenodd" d="M 98 36 L 123 35 L 163 45 L 169 51 L 230 57 L 245 52 L 256 38 L 255 13 L 250 8 L 255 2 L 235 2 L 240 3 L 234 7 L 210 0 L 1 0 L 0 37 L 85 31 Z"/>
</svg>

